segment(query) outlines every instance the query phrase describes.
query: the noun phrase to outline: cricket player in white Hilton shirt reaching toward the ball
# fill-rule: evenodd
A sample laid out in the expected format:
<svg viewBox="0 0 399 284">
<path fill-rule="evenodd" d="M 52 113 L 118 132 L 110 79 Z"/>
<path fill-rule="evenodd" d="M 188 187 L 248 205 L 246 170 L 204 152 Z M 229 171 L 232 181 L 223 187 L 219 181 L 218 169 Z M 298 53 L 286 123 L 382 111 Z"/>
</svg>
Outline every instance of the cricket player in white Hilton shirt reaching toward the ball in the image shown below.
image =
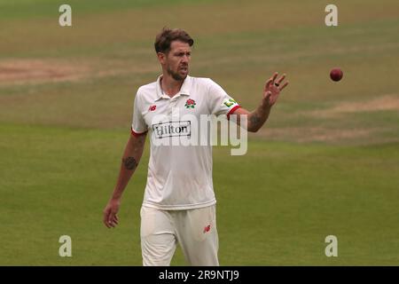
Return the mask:
<svg viewBox="0 0 399 284">
<path fill-rule="evenodd" d="M 246 130 L 256 132 L 269 117 L 288 82 L 278 74 L 265 83 L 260 104 L 249 112 L 208 78 L 189 75 L 194 41 L 182 29 L 163 28 L 155 39 L 162 67 L 156 82 L 141 86 L 134 101 L 133 122 L 121 170 L 111 199 L 104 209 L 104 224 L 118 225 L 122 193 L 137 169 L 150 137 L 151 154 L 141 207 L 143 265 L 169 265 L 176 245 L 190 265 L 219 265 L 212 181 L 212 146 L 161 144 L 168 139 L 191 137 L 199 131 L 193 122 L 200 115 L 229 118 L 246 115 Z M 182 115 L 191 119 L 182 119 Z M 201 133 L 199 135 L 202 135 Z"/>
</svg>

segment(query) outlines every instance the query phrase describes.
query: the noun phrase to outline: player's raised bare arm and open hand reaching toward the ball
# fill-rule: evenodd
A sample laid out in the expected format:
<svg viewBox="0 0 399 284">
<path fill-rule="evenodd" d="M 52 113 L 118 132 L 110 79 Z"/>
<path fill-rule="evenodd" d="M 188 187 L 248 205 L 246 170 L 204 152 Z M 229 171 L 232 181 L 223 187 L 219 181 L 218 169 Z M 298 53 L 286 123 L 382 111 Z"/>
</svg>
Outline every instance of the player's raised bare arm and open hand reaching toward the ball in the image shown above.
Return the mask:
<svg viewBox="0 0 399 284">
<path fill-rule="evenodd" d="M 253 112 L 247 111 L 245 108 L 239 107 L 232 114 L 237 115 L 237 123 L 240 123 L 240 115 L 246 116 L 246 130 L 256 132 L 260 130 L 264 122 L 268 120 L 271 106 L 273 106 L 288 82 L 283 83 L 286 75 L 278 78 L 278 73 L 275 73 L 264 85 L 263 98 L 261 104 L 256 107 Z"/>
</svg>

